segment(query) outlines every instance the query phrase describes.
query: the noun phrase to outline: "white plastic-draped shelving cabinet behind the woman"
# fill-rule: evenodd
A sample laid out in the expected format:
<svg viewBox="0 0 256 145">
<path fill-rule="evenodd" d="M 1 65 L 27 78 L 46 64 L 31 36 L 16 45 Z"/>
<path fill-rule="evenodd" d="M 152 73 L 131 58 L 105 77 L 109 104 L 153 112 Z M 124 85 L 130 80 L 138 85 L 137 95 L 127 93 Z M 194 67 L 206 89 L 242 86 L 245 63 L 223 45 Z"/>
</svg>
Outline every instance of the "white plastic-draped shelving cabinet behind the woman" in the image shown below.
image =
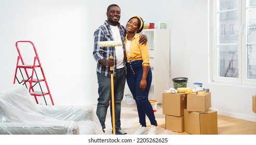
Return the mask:
<svg viewBox="0 0 256 145">
<path fill-rule="evenodd" d="M 147 36 L 147 45 L 150 53 L 150 66 L 153 79 L 149 99 L 163 103 L 164 90 L 171 88 L 170 78 L 170 30 L 145 29 L 140 34 Z"/>
</svg>

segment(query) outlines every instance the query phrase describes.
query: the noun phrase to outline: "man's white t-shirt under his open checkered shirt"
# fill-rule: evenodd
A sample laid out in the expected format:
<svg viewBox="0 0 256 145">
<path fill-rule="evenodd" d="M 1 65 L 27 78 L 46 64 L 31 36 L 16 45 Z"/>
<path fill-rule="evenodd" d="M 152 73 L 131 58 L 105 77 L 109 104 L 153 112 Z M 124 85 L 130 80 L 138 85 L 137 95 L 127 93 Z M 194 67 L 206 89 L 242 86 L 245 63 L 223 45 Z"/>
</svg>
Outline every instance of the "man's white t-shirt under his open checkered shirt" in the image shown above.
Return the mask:
<svg viewBox="0 0 256 145">
<path fill-rule="evenodd" d="M 112 31 L 114 40 L 115 41 L 122 41 L 118 26 L 110 25 L 110 29 Z M 116 46 L 115 47 L 115 53 L 116 53 L 116 68 L 117 69 L 123 68 L 124 67 L 124 58 L 125 58 L 123 46 Z"/>
</svg>

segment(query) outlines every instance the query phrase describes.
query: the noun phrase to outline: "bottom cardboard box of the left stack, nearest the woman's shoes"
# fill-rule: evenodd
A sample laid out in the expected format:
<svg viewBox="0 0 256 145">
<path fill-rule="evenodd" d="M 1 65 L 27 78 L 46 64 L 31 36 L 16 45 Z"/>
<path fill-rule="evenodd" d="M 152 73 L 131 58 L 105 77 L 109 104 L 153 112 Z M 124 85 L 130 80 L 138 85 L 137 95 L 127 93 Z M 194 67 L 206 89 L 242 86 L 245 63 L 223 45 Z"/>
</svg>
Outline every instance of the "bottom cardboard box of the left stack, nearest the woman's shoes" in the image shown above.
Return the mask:
<svg viewBox="0 0 256 145">
<path fill-rule="evenodd" d="M 172 115 L 165 115 L 165 128 L 172 132 L 184 132 L 184 116 L 175 117 Z"/>
</svg>

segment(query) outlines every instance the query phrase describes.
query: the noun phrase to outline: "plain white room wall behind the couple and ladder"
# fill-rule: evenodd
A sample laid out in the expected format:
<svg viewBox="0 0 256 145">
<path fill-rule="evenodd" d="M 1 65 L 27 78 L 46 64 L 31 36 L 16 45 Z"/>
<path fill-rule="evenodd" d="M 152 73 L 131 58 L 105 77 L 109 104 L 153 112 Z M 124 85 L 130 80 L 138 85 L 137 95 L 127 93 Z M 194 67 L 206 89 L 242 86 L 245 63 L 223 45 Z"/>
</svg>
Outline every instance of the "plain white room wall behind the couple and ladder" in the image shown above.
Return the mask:
<svg viewBox="0 0 256 145">
<path fill-rule="evenodd" d="M 120 23 L 140 15 L 155 26 L 171 29 L 171 77 L 187 77 L 188 86 L 201 82 L 212 92 L 219 114 L 256 121 L 251 111 L 255 87 L 209 83 L 208 3 L 171 1 L 0 1 L 0 80 L 12 84 L 17 61 L 15 42 L 34 42 L 55 105 L 96 104 L 98 84 L 92 57 L 93 32 L 106 20 L 106 8 L 122 9 Z M 169 88 L 171 86 L 167 86 Z M 125 94 L 129 93 L 126 88 Z"/>
</svg>

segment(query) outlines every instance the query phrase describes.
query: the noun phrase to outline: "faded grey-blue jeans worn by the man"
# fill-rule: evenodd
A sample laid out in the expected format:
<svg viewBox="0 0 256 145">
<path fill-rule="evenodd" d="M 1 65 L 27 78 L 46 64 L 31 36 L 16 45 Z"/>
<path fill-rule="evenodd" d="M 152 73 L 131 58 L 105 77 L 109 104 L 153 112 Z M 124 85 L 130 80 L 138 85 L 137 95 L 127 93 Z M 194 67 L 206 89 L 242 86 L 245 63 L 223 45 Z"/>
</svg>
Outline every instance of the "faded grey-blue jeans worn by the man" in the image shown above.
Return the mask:
<svg viewBox="0 0 256 145">
<path fill-rule="evenodd" d="M 109 107 L 109 103 L 111 102 L 111 78 L 105 77 L 97 72 L 98 78 L 98 105 L 96 114 L 100 120 L 102 130 L 106 128 L 105 120 L 106 120 L 106 113 L 107 108 Z M 126 82 L 126 75 L 125 69 L 120 68 L 116 71 L 116 76 L 114 77 L 114 98 L 115 98 L 115 128 L 116 130 L 121 129 L 121 122 L 120 122 L 120 112 L 121 112 L 121 101 L 124 97 L 124 89 L 125 89 L 125 82 Z M 112 103 L 112 102 L 111 102 Z M 112 121 L 112 104 L 110 105 L 111 111 L 111 123 L 113 127 Z"/>
</svg>

